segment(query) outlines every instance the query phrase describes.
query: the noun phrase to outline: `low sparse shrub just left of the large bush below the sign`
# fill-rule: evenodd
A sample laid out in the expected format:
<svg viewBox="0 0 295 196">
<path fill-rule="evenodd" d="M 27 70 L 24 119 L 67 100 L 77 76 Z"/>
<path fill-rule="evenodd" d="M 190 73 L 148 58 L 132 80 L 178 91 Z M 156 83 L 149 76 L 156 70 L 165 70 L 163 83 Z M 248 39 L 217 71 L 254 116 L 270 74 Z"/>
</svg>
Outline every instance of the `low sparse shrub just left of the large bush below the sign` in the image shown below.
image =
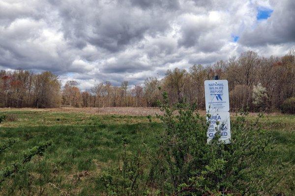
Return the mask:
<svg viewBox="0 0 295 196">
<path fill-rule="evenodd" d="M 106 195 L 114 196 L 144 196 L 158 195 L 160 192 L 153 188 L 150 191 L 151 183 L 156 178 L 153 176 L 155 164 L 151 164 L 148 174 L 146 169 L 151 162 L 138 150 L 135 155 L 127 152 L 127 138 L 123 138 L 123 152 L 119 158 L 118 167 L 102 172 L 98 177 L 98 186 Z"/>
</svg>

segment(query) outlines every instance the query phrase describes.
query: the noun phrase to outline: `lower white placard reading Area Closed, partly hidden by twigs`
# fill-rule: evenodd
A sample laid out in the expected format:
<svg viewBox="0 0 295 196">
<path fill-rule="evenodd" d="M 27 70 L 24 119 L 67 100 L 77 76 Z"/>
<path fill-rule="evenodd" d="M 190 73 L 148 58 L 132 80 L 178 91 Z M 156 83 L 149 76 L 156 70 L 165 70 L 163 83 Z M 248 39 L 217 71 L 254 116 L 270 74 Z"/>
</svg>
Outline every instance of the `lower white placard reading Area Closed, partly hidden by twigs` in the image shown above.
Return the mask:
<svg viewBox="0 0 295 196">
<path fill-rule="evenodd" d="M 229 112 L 217 112 L 207 113 L 207 122 L 209 127 L 207 131 L 207 143 L 209 143 L 216 132 L 220 134 L 219 141 L 223 141 L 226 144 L 231 143 L 231 121 Z"/>
</svg>

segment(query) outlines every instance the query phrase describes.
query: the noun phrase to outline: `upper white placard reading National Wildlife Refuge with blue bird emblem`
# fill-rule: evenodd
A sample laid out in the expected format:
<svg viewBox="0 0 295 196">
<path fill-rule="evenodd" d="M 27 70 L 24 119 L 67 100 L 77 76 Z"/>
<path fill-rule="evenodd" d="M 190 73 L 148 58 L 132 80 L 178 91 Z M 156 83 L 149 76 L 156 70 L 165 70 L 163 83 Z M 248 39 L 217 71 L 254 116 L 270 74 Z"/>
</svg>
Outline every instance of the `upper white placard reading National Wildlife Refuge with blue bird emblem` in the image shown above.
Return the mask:
<svg viewBox="0 0 295 196">
<path fill-rule="evenodd" d="M 227 80 L 205 80 L 205 101 L 207 112 L 230 111 Z"/>
</svg>

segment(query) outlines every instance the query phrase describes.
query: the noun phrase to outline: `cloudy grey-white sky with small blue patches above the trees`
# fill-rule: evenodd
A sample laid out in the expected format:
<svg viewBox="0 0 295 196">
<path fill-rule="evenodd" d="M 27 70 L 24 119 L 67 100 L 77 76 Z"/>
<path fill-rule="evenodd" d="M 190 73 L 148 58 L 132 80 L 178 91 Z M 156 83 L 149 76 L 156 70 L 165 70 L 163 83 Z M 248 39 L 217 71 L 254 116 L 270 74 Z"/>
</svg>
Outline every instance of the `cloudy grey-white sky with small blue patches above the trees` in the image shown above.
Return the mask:
<svg viewBox="0 0 295 196">
<path fill-rule="evenodd" d="M 246 50 L 295 47 L 295 0 L 0 0 L 0 69 L 140 84 Z"/>
</svg>

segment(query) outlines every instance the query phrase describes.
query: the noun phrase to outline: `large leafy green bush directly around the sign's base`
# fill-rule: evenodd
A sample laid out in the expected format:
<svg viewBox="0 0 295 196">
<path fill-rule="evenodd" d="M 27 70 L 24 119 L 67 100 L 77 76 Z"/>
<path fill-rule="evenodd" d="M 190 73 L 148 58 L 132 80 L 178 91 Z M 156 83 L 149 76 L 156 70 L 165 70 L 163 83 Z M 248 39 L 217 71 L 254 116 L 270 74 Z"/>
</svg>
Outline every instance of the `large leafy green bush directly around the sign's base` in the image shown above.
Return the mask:
<svg viewBox="0 0 295 196">
<path fill-rule="evenodd" d="M 166 180 L 162 183 L 170 187 L 166 193 L 251 195 L 267 190 L 266 181 L 272 176 L 260 166 L 270 136 L 260 129 L 259 118 L 248 124 L 247 113 L 241 113 L 232 123 L 231 144 L 220 142 L 218 134 L 207 144 L 208 124 L 196 107 L 186 103 L 169 107 L 164 97 L 165 114 L 160 119 L 165 127 L 161 165 L 166 167 Z M 173 115 L 176 110 L 178 115 Z"/>
</svg>

